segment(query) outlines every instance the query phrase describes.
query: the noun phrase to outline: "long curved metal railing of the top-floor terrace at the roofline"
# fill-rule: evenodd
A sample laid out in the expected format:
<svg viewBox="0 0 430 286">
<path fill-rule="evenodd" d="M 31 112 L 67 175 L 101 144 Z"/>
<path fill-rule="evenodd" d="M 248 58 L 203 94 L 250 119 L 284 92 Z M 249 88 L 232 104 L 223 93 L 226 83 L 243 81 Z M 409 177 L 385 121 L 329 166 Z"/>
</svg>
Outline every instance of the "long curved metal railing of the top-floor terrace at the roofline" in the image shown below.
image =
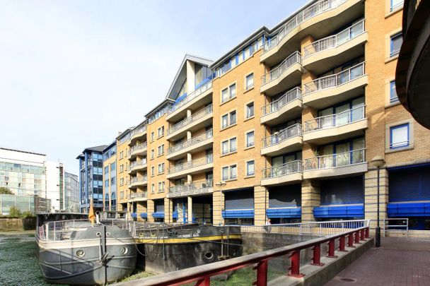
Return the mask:
<svg viewBox="0 0 430 286">
<path fill-rule="evenodd" d="M 291 18 L 282 26 L 282 28 L 279 29 L 276 36 L 272 37 L 270 40 L 265 42 L 265 44 L 263 44 L 262 54 L 265 54 L 266 52 L 269 52 L 269 50 L 276 47 L 279 42 L 281 42 L 281 40 L 284 39 L 284 37 L 288 35 L 289 32 L 291 32 L 291 30 L 296 28 L 301 23 L 305 22 L 310 18 L 320 15 L 325 11 L 337 8 L 340 5 L 344 4 L 344 2 L 346 1 L 348 0 L 320 0 L 317 3 L 309 6 L 308 8 L 302 10 L 301 12 L 298 12 L 296 16 Z"/>
</svg>

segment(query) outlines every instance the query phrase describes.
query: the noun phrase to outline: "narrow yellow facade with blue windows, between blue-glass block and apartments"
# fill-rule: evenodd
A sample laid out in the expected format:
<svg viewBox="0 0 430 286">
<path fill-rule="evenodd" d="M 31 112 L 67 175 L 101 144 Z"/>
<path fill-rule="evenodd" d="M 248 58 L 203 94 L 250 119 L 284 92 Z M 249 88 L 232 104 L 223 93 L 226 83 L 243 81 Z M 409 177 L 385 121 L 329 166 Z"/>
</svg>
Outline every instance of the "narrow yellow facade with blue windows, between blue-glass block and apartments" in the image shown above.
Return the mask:
<svg viewBox="0 0 430 286">
<path fill-rule="evenodd" d="M 117 142 L 103 150 L 104 210 L 117 210 Z"/>
</svg>

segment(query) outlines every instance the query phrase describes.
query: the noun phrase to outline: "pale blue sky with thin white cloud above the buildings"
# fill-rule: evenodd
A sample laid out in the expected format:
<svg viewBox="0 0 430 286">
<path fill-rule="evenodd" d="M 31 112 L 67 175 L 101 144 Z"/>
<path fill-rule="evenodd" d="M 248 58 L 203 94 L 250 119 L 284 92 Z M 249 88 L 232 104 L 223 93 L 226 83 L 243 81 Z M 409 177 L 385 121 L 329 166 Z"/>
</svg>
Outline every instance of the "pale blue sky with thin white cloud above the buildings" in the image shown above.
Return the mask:
<svg viewBox="0 0 430 286">
<path fill-rule="evenodd" d="M 78 174 L 168 92 L 185 54 L 216 60 L 308 0 L 0 0 L 0 147 Z"/>
</svg>

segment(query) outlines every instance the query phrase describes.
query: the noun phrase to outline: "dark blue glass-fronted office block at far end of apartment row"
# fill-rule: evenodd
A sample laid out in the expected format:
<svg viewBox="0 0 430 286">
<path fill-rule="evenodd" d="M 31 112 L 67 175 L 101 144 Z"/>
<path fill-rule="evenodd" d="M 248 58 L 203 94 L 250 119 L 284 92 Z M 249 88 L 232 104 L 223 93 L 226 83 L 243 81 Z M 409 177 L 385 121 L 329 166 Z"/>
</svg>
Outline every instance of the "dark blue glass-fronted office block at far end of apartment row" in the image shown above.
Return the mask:
<svg viewBox="0 0 430 286">
<path fill-rule="evenodd" d="M 95 210 L 103 210 L 103 150 L 100 145 L 83 150 L 79 160 L 79 202 L 81 213 L 88 213 L 91 198 Z"/>
</svg>

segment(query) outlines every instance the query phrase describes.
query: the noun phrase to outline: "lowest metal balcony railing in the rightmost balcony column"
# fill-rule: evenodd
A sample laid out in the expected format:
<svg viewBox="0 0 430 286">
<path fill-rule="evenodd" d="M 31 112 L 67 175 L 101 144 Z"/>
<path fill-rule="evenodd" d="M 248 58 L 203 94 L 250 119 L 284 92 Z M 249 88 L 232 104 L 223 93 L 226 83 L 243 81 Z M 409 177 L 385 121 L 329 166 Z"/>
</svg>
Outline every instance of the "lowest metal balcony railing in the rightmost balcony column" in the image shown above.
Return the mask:
<svg viewBox="0 0 430 286">
<path fill-rule="evenodd" d="M 305 170 L 329 169 L 366 162 L 366 149 L 305 159 Z"/>
</svg>

